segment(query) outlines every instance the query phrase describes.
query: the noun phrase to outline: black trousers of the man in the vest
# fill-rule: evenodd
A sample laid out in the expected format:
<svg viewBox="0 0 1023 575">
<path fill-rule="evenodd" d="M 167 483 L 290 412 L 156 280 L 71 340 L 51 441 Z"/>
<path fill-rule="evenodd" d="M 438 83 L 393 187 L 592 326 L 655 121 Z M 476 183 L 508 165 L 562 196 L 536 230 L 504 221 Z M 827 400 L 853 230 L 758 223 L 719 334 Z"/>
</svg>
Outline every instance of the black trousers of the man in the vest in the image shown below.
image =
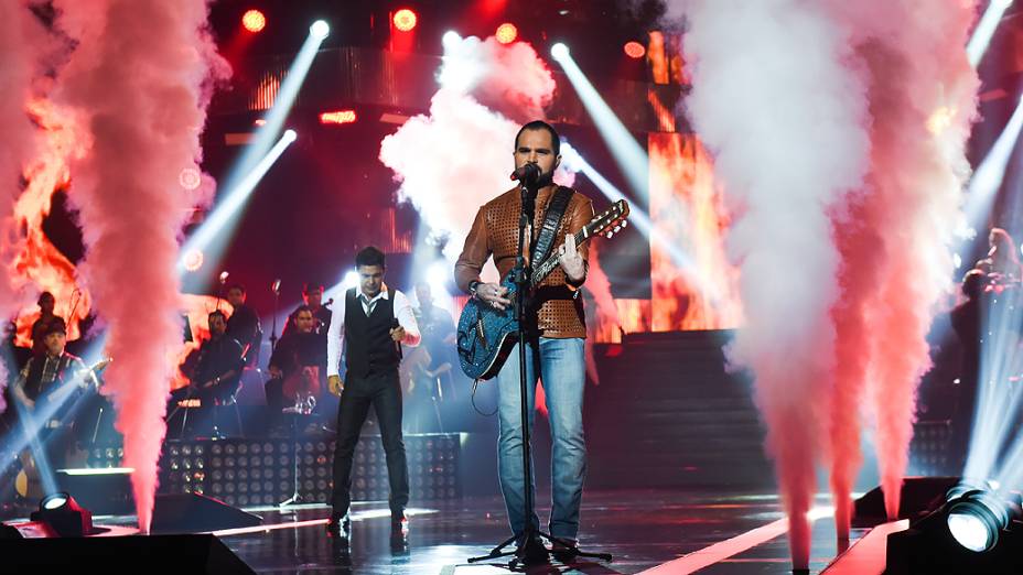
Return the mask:
<svg viewBox="0 0 1023 575">
<path fill-rule="evenodd" d="M 370 405 L 377 412 L 384 440 L 391 513 L 400 513 L 409 502 L 409 466 L 401 437 L 401 384 L 396 369 L 367 378 L 353 377 L 345 382 L 337 406 L 334 493 L 331 497 L 333 517 L 344 516 L 352 505 L 352 459 Z"/>
</svg>

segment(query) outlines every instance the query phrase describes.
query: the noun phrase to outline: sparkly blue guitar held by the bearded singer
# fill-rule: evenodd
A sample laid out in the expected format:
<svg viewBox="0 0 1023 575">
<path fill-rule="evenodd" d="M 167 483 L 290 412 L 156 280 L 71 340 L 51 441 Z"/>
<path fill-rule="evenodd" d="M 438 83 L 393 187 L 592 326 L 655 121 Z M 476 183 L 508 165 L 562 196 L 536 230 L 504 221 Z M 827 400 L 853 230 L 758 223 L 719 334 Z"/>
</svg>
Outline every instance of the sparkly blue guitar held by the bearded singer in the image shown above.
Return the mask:
<svg viewBox="0 0 1023 575">
<path fill-rule="evenodd" d="M 595 236 L 611 238 L 628 224 L 625 219 L 627 216 L 628 203 L 624 199 L 615 202 L 574 234 L 575 245 L 582 246 Z M 559 258 L 560 250 L 556 250 L 534 268 L 529 278 L 530 290 L 558 268 Z M 515 270 L 508 272 L 500 282 L 502 288 L 508 289 L 506 297 L 513 301 L 516 292 L 514 273 Z M 518 333 L 514 305 L 497 310 L 476 297 L 471 299 L 459 317 L 457 348 L 462 371 L 472 379 L 491 379 L 496 376 L 518 341 Z"/>
</svg>

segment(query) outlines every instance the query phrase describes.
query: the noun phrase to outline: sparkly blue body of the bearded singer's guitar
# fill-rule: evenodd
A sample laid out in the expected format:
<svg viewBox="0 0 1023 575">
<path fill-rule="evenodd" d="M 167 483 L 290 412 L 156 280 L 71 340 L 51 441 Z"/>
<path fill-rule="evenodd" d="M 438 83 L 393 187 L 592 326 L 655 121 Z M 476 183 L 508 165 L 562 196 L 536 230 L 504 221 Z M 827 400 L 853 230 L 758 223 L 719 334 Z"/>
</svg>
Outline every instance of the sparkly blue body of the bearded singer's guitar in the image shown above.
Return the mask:
<svg viewBox="0 0 1023 575">
<path fill-rule="evenodd" d="M 515 282 L 512 274 L 500 285 L 508 289 L 507 297 L 515 301 Z M 500 371 L 512 348 L 518 341 L 518 321 L 515 307 L 497 310 L 475 297 L 471 299 L 459 316 L 459 364 L 473 379 L 491 379 Z"/>
</svg>

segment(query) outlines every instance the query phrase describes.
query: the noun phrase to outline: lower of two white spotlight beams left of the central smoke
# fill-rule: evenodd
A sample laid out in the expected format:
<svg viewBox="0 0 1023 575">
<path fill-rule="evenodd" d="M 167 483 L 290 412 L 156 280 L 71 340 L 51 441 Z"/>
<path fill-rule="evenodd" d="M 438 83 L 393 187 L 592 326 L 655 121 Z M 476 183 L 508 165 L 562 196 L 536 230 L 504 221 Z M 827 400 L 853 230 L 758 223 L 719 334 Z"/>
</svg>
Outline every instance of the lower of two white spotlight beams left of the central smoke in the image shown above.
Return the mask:
<svg viewBox="0 0 1023 575">
<path fill-rule="evenodd" d="M 224 199 L 217 204 L 213 213 L 206 218 L 206 221 L 192 234 L 184 246 L 181 247 L 177 256 L 177 273 L 179 275 L 183 274 L 185 269 L 185 257 L 193 250 L 206 251 L 206 261 L 216 262 L 219 258 L 218 253 L 213 254 L 211 258 L 208 253 L 208 248 L 216 247 L 217 252 L 223 251 L 227 245 L 227 238 L 225 236 L 225 228 L 229 225 L 234 227 L 237 224 L 237 214 L 245 205 L 245 202 L 252 194 L 252 191 L 256 189 L 256 185 L 262 180 L 262 177 L 270 170 L 270 166 L 277 162 L 277 159 L 284 153 L 284 150 L 291 145 L 298 138 L 294 130 L 288 130 L 281 135 L 281 139 L 278 140 L 277 144 L 271 148 L 267 154 L 252 166 L 252 170 L 240 181 L 235 187 L 224 196 Z M 215 240 L 219 240 L 214 243 Z"/>
</svg>

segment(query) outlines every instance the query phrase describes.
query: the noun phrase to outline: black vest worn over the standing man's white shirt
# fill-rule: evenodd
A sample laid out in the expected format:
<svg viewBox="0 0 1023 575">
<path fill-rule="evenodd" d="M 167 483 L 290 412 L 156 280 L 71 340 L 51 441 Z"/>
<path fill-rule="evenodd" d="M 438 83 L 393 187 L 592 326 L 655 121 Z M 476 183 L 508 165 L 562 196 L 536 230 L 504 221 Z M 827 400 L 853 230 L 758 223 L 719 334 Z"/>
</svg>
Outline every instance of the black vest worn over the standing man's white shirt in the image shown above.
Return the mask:
<svg viewBox="0 0 1023 575">
<path fill-rule="evenodd" d="M 379 299 L 369 316 L 353 288 L 345 293 L 345 366 L 347 377 L 397 371 L 398 344 L 390 338 L 395 326 L 395 293 Z"/>
</svg>

